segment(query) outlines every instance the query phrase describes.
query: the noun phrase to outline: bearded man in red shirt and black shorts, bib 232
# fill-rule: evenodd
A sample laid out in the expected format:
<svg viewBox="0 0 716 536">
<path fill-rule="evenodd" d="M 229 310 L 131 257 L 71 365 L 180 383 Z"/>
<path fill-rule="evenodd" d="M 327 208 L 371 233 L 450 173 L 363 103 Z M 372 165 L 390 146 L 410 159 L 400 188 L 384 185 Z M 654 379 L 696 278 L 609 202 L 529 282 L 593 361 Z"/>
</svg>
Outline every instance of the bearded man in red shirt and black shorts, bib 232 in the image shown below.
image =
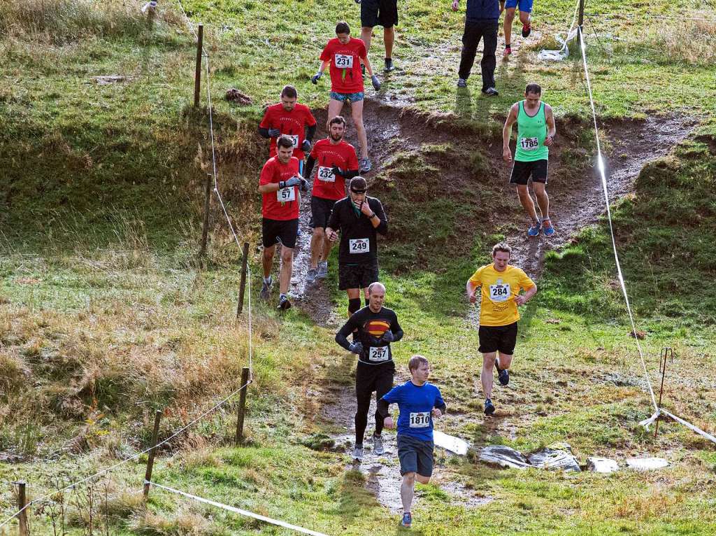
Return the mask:
<svg viewBox="0 0 716 536">
<path fill-rule="evenodd" d="M 313 283 L 316 277 L 328 277 L 328 256 L 333 243 L 326 240 L 326 225 L 336 201 L 346 196 L 346 180 L 359 173 L 356 150 L 343 140 L 345 130 L 346 120 L 340 115 L 330 120 L 328 138 L 316 142 L 304 168 L 304 178 L 309 179 L 318 163 L 311 197 L 310 226 L 314 234 L 311 238 L 311 267 L 306 273 L 307 283 Z"/>
</svg>

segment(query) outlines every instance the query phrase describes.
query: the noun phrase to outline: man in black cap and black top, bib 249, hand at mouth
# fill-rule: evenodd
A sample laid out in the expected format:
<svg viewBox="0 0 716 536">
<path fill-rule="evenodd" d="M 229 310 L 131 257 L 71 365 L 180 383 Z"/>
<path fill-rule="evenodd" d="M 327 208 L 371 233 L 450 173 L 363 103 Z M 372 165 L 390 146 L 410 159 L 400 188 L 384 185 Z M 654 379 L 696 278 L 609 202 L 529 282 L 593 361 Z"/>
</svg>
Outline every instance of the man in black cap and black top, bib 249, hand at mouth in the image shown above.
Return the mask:
<svg viewBox="0 0 716 536">
<path fill-rule="evenodd" d="M 368 197 L 362 177 L 351 179 L 349 195 L 337 201 L 326 227 L 334 242 L 341 233 L 338 254 L 338 288 L 348 293 L 348 315 L 360 309 L 360 289 L 368 305 L 368 286 L 378 280 L 377 234 L 385 236 L 388 221 L 377 198 Z"/>
</svg>

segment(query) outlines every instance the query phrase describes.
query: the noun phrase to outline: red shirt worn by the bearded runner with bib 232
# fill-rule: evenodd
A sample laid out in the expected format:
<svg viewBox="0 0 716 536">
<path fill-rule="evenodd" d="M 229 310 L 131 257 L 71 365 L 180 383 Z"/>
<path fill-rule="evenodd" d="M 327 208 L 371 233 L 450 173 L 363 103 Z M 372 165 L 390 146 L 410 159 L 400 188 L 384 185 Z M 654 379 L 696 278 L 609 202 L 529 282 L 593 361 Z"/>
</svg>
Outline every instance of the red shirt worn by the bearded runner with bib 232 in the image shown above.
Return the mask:
<svg viewBox="0 0 716 536">
<path fill-rule="evenodd" d="M 324 138 L 316 141 L 311 158 L 316 161 L 313 195 L 323 199 L 342 199 L 346 196 L 346 179 L 334 175 L 331 169 L 337 166 L 344 171 L 358 169 L 356 150 L 350 143 L 341 140 L 336 145 Z"/>
</svg>

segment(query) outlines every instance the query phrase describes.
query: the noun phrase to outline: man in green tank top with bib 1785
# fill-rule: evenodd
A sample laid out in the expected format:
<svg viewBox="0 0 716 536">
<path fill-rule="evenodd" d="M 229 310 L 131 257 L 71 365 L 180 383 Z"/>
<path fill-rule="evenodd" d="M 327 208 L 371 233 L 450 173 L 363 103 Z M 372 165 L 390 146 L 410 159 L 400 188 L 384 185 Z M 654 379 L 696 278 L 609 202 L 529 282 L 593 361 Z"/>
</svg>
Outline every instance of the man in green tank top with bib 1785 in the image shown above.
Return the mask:
<svg viewBox="0 0 716 536">
<path fill-rule="evenodd" d="M 552 107 L 542 102 L 542 88 L 537 84 L 528 84 L 525 88 L 525 100 L 515 102 L 505 120 L 503 128 L 503 160 L 512 161 L 510 138 L 512 125 L 517 123 L 517 144 L 515 163 L 512 168 L 510 183 L 517 186 L 520 203 L 531 217 L 532 222 L 527 231 L 528 236 L 544 236 L 554 234 L 554 226 L 549 218 L 549 197 L 547 196 L 547 169 L 549 148 L 556 135 Z M 530 195 L 528 181 L 532 178 L 541 219 L 537 216 L 534 201 Z"/>
</svg>

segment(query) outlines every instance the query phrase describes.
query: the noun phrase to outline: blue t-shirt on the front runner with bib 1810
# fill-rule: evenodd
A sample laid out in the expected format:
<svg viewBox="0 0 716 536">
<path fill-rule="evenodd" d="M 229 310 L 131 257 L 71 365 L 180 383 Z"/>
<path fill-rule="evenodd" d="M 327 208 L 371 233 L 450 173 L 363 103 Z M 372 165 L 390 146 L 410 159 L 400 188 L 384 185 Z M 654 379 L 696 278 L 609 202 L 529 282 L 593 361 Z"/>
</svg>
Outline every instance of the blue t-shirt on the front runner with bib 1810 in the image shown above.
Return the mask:
<svg viewBox="0 0 716 536">
<path fill-rule="evenodd" d="M 416 386 L 408 380 L 392 388 L 382 399 L 389 404 L 397 403 L 400 408 L 398 435 L 432 441 L 432 408 L 445 406 L 440 389 L 430 382 Z"/>
</svg>

